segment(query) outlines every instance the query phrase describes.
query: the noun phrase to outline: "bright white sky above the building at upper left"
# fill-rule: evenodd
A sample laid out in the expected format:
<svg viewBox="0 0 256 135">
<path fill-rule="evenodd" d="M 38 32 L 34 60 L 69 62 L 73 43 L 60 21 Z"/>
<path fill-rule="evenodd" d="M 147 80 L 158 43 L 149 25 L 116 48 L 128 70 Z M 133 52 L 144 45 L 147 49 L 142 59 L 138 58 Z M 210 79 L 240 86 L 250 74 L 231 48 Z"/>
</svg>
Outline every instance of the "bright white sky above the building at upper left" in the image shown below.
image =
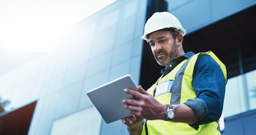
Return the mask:
<svg viewBox="0 0 256 135">
<path fill-rule="evenodd" d="M 48 53 L 60 32 L 117 0 L 0 0 L 0 47 Z"/>
</svg>

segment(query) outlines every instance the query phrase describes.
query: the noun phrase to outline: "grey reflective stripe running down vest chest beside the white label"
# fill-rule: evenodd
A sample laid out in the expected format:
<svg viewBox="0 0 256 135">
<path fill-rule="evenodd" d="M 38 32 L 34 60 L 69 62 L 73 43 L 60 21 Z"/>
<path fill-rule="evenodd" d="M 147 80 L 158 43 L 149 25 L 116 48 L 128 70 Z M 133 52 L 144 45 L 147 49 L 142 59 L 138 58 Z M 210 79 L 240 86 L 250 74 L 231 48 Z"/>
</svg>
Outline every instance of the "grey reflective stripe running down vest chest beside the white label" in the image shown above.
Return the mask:
<svg viewBox="0 0 256 135">
<path fill-rule="evenodd" d="M 171 101 L 170 104 L 180 104 L 180 94 L 181 94 L 181 85 L 182 85 L 182 78 L 185 72 L 185 69 L 188 66 L 188 62 L 191 60 L 192 57 L 190 57 L 184 64 L 180 67 L 178 72 L 176 73 L 174 77 L 174 82 L 172 84 L 172 95 L 171 95 Z"/>
</svg>

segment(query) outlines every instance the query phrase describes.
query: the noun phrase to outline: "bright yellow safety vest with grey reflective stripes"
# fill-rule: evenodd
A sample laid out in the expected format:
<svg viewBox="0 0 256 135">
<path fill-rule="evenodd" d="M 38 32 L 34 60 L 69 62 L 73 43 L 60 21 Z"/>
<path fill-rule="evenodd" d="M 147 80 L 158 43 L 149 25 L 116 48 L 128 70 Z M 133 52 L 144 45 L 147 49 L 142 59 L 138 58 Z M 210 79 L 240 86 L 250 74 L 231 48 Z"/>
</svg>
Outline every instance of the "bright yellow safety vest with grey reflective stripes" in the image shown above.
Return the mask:
<svg viewBox="0 0 256 135">
<path fill-rule="evenodd" d="M 202 54 L 210 55 L 220 65 L 227 83 L 226 66 L 212 51 L 209 51 L 206 53 L 197 53 L 191 58 L 183 60 L 169 74 L 165 75 L 163 78 L 161 76 L 157 82 L 147 90 L 147 92 L 153 95 L 157 84 L 159 85 L 162 82 L 173 81 L 172 89 L 169 92 L 155 95 L 155 98 L 159 103 L 179 104 L 186 102 L 188 99 L 196 98 L 192 86 L 192 75 L 196 60 L 198 56 Z M 146 130 L 149 135 L 220 135 L 220 131 L 217 130 L 217 122 L 199 125 L 197 131 L 186 123 L 164 120 L 147 120 L 146 126 L 145 129 L 144 122 L 142 135 L 146 134 Z"/>
</svg>

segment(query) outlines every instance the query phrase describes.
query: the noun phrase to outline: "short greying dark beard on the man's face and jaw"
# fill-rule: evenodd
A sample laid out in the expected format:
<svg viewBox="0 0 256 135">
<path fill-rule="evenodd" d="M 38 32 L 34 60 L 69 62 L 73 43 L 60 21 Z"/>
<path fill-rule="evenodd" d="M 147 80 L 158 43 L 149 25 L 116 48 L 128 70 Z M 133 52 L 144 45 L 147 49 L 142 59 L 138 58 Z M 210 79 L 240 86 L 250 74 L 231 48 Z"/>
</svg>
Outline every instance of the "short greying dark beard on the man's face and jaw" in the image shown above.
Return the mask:
<svg viewBox="0 0 256 135">
<path fill-rule="evenodd" d="M 157 54 L 159 53 L 165 53 L 166 55 L 164 57 L 157 57 Z M 159 50 L 155 54 L 155 60 L 156 62 L 161 66 L 167 66 L 173 58 L 175 58 L 176 54 L 178 53 L 178 46 L 176 42 L 174 42 L 172 49 L 169 53 L 167 53 L 164 49 Z"/>
</svg>

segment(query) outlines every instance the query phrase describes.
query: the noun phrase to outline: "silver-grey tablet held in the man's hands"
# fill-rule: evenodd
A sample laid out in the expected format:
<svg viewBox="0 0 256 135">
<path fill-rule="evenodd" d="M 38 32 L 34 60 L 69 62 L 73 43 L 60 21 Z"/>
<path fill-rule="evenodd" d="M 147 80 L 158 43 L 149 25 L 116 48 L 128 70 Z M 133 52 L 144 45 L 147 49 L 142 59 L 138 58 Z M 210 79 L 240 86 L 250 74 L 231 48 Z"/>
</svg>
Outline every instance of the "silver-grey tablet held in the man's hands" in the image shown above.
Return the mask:
<svg viewBox="0 0 256 135">
<path fill-rule="evenodd" d="M 106 123 L 131 116 L 130 110 L 124 108 L 122 101 L 133 96 L 125 93 L 125 88 L 138 90 L 138 86 L 129 74 L 87 92 Z"/>
</svg>

